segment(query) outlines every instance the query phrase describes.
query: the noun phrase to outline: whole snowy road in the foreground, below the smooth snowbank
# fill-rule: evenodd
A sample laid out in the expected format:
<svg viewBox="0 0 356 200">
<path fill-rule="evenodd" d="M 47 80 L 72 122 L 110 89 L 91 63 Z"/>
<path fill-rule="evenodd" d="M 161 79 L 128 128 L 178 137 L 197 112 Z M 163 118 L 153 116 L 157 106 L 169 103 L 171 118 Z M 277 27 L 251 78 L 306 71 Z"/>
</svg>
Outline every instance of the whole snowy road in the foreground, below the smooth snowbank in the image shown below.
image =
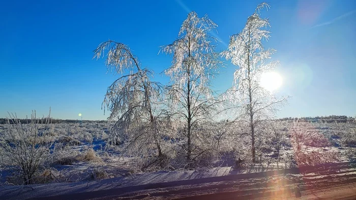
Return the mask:
<svg viewBox="0 0 356 200">
<path fill-rule="evenodd" d="M 38 190 L 37 190 L 38 191 Z M 4 199 L 15 196 L 3 196 Z M 28 199 L 356 199 L 356 164 L 333 163 L 112 189 L 26 193 Z"/>
</svg>

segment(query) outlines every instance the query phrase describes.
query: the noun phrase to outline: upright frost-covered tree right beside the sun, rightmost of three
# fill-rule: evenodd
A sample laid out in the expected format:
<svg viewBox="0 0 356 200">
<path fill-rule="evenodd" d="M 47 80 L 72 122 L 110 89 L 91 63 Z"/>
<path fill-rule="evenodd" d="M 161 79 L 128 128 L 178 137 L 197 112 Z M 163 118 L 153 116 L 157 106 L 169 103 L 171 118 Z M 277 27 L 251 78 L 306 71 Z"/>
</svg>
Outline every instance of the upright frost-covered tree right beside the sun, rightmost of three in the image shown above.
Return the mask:
<svg viewBox="0 0 356 200">
<path fill-rule="evenodd" d="M 270 6 L 266 3 L 259 4 L 255 12 L 248 17 L 242 31 L 231 36 L 228 50 L 223 52 L 227 59 L 239 66 L 233 75 L 233 86 L 227 91 L 227 95 L 234 103 L 238 103 L 241 108 L 239 119 L 246 122 L 250 128 L 253 162 L 256 161 L 256 127 L 264 120 L 270 119 L 277 106 L 285 101 L 285 98 L 277 99 L 273 93 L 260 85 L 261 75 L 273 71 L 278 64 L 278 61 L 269 62 L 275 50 L 265 49 L 262 44 L 270 38 L 269 19 L 260 16 L 263 8 L 269 9 Z"/>
</svg>

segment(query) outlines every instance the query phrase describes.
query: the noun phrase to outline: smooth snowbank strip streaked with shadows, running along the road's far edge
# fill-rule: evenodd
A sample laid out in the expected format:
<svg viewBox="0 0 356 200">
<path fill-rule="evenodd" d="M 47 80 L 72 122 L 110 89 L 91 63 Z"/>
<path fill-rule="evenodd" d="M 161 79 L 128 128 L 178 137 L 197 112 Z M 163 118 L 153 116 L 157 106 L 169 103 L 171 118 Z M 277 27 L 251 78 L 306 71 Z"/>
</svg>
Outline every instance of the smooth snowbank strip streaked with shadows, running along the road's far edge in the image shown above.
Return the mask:
<svg viewBox="0 0 356 200">
<path fill-rule="evenodd" d="M 198 169 L 192 171 L 159 171 L 133 174 L 126 177 L 103 179 L 101 181 L 81 181 L 76 183 L 50 183 L 29 186 L 9 186 L 0 187 L 0 199 L 26 199 L 34 197 L 45 197 L 51 195 L 61 195 L 78 192 L 99 191 L 127 186 L 146 185 L 151 183 L 174 182 L 181 180 L 202 179 L 209 177 L 219 177 L 232 174 L 246 173 L 234 171 L 231 167 L 220 167 L 212 169 Z M 202 182 L 209 180 L 202 179 Z"/>
</svg>

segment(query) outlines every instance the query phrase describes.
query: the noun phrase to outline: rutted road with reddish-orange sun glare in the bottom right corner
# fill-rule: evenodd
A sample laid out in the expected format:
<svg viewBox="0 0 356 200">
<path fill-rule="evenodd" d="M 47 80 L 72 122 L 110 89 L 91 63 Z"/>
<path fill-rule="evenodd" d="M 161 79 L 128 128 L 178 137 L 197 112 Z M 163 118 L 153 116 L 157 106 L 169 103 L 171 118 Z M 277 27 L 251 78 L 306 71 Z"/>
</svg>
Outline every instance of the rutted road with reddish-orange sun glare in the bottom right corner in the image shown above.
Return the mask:
<svg viewBox="0 0 356 200">
<path fill-rule="evenodd" d="M 118 199 L 356 199 L 354 164 L 300 168 L 238 180 L 149 189 L 121 194 Z M 266 174 L 265 174 L 266 175 Z"/>
</svg>

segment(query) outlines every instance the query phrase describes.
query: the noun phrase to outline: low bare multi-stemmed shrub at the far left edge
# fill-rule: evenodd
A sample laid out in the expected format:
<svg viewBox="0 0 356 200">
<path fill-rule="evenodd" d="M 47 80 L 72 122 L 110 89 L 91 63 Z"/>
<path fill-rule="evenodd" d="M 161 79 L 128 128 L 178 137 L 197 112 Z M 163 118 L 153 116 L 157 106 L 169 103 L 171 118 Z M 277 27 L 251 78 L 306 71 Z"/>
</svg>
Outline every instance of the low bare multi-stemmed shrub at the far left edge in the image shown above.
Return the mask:
<svg viewBox="0 0 356 200">
<path fill-rule="evenodd" d="M 37 119 L 35 111 L 26 124 L 22 124 L 16 115 L 9 116 L 11 119 L 7 118 L 7 129 L 0 139 L 2 163 L 8 172 L 23 179 L 23 184 L 33 184 L 39 171 L 49 164 L 53 144 L 49 134 L 50 115 Z"/>
</svg>

